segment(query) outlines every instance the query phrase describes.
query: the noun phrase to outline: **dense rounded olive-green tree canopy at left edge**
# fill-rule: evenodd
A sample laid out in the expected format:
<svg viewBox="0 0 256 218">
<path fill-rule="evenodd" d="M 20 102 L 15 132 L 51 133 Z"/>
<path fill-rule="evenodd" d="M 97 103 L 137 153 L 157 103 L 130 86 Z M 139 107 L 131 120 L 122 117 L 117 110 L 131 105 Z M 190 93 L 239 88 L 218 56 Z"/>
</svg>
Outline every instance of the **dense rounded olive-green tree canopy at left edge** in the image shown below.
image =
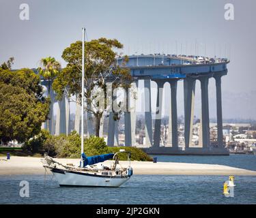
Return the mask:
<svg viewBox="0 0 256 218">
<path fill-rule="evenodd" d="M 42 97 L 40 78 L 31 69 L 0 69 L 0 140 L 25 142 L 38 134 L 49 101 Z"/>
</svg>

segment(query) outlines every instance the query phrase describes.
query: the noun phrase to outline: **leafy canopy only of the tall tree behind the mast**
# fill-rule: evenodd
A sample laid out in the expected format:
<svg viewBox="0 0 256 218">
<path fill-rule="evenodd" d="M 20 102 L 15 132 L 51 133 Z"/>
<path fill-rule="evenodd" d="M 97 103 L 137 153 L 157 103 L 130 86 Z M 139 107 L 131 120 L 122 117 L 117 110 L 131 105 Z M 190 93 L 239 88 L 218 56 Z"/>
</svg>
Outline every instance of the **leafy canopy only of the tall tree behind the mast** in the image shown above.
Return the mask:
<svg viewBox="0 0 256 218">
<path fill-rule="evenodd" d="M 132 79 L 129 70 L 122 65 L 116 65 L 117 54 L 113 49 L 123 48 L 117 40 L 100 38 L 85 42 L 85 96 L 91 97 L 94 87 L 103 86 L 107 76 L 115 77 L 115 86 L 130 84 Z M 53 82 L 53 89 L 60 99 L 63 94 L 81 95 L 82 42 L 77 41 L 65 50 L 61 56 L 68 64 Z M 127 61 L 127 57 L 125 61 Z M 66 90 L 66 88 L 68 89 Z"/>
</svg>

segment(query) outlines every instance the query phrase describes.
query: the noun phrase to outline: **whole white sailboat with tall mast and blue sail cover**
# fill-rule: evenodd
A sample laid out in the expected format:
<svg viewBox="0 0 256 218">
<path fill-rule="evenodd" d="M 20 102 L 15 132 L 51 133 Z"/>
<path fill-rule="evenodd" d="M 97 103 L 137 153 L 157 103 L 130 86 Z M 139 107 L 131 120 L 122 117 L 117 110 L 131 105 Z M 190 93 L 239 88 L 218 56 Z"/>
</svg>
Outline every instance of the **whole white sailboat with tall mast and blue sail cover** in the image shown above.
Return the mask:
<svg viewBox="0 0 256 218">
<path fill-rule="evenodd" d="M 57 178 L 60 186 L 66 187 L 119 187 L 126 183 L 132 176 L 133 170 L 130 166 L 130 152 L 120 149 L 117 153 L 96 155 L 86 157 L 83 152 L 83 108 L 84 108 L 84 76 L 85 76 L 85 28 L 83 28 L 83 60 L 82 60 L 82 103 L 81 103 L 81 161 L 79 166 L 72 164 L 64 165 L 52 157 L 45 155 L 42 163 L 45 169 L 51 170 Z M 119 153 L 126 153 L 129 166 L 123 168 L 119 164 Z M 102 163 L 113 159 L 111 166 Z"/>
</svg>

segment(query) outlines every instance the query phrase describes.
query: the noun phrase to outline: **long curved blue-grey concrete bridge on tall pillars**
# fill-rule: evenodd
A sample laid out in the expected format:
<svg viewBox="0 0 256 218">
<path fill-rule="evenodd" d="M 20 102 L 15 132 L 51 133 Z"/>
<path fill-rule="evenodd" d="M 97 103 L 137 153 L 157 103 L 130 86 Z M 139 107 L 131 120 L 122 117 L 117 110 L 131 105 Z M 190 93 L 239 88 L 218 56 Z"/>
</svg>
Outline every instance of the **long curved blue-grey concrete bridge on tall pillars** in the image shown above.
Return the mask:
<svg viewBox="0 0 256 218">
<path fill-rule="evenodd" d="M 123 59 L 117 59 L 119 65 Z M 221 98 L 221 78 L 227 75 L 227 64 L 225 59 L 210 59 L 203 61 L 193 57 L 177 57 L 175 55 L 132 55 L 126 64 L 130 68 L 130 74 L 134 78 L 133 89 L 138 88 L 139 80 L 144 81 L 145 88 L 145 151 L 150 154 L 179 154 L 179 155 L 228 155 L 223 146 L 223 117 Z M 210 121 L 209 121 L 209 98 L 208 82 L 214 78 L 216 82 L 216 117 L 218 123 L 218 146 L 210 145 Z M 184 82 L 184 143 L 182 149 L 178 144 L 177 131 L 177 81 Z M 154 134 L 152 127 L 151 108 L 151 81 L 157 84 L 156 121 L 154 123 Z M 170 84 L 171 108 L 169 117 L 168 147 L 160 146 L 160 126 L 162 112 L 162 88 L 165 82 Z M 201 84 L 201 132 L 198 148 L 191 147 L 193 137 L 193 118 L 195 101 L 195 84 Z M 132 95 L 129 95 L 132 97 Z M 51 93 L 54 100 L 54 94 Z M 128 102 L 131 102 L 130 100 Z M 133 102 L 133 108 L 134 108 Z M 53 108 L 53 106 L 51 106 Z M 53 111 L 53 110 L 51 110 Z M 87 114 L 89 116 L 89 114 Z M 80 106 L 76 105 L 75 130 L 79 132 Z M 52 114 L 51 114 L 51 117 Z M 70 132 L 70 110 L 68 99 L 63 99 L 57 104 L 57 121 L 55 134 L 68 134 Z M 136 112 L 124 112 L 125 122 L 125 145 L 134 146 Z M 102 121 L 103 123 L 103 121 Z M 88 134 L 93 134 L 91 119 L 87 119 Z M 53 119 L 51 119 L 50 131 L 53 133 Z M 102 127 L 101 127 L 102 129 Z M 102 131 L 101 131 L 102 132 Z M 118 140 L 118 121 L 114 121 L 113 112 L 109 113 L 108 142 L 109 146 L 116 146 Z"/>
</svg>

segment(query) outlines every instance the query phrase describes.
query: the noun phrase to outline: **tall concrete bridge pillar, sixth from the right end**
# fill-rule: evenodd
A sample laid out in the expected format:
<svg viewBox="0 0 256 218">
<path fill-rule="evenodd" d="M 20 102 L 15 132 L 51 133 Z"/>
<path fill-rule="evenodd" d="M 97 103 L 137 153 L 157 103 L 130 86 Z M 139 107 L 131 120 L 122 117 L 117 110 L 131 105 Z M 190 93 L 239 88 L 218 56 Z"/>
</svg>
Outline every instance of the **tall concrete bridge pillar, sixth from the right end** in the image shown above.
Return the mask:
<svg viewBox="0 0 256 218">
<path fill-rule="evenodd" d="M 152 146 L 151 80 L 144 80 L 145 87 L 145 144 Z"/>
</svg>

